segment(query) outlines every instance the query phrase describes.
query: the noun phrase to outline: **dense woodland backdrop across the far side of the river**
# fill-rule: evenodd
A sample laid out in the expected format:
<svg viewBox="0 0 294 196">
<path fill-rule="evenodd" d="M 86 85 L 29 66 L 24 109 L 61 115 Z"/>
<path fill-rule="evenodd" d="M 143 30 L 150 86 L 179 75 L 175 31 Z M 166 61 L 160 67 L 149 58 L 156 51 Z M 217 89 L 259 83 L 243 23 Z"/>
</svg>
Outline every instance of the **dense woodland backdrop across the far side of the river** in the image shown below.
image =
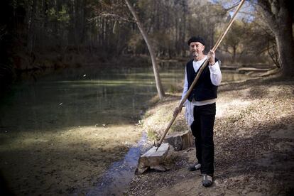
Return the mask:
<svg viewBox="0 0 294 196">
<path fill-rule="evenodd" d="M 238 1 L 149 0 L 131 4 L 156 58 L 181 59 L 188 55 L 186 42 L 192 35 L 203 36 L 206 49 L 212 48 Z M 291 1 L 246 1 L 218 50 L 224 63 L 266 63 L 293 72 L 293 61 L 284 57 L 293 56 L 293 6 L 288 4 Z M 276 13 L 277 9 L 283 14 Z M 23 70 L 149 54 L 131 11 L 121 0 L 1 1 L 0 39 L 3 85 Z"/>
</svg>

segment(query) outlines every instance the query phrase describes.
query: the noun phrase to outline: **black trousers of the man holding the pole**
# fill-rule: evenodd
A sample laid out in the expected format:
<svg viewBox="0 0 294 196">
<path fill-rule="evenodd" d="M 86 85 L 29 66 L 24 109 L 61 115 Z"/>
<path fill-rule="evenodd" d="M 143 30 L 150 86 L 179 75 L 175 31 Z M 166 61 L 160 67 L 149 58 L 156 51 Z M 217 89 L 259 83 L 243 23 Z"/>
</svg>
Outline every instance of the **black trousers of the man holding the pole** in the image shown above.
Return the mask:
<svg viewBox="0 0 294 196">
<path fill-rule="evenodd" d="M 216 104 L 194 107 L 194 121 L 191 125 L 195 136 L 196 158 L 201 164 L 201 173 L 214 173 L 213 127 Z"/>
</svg>

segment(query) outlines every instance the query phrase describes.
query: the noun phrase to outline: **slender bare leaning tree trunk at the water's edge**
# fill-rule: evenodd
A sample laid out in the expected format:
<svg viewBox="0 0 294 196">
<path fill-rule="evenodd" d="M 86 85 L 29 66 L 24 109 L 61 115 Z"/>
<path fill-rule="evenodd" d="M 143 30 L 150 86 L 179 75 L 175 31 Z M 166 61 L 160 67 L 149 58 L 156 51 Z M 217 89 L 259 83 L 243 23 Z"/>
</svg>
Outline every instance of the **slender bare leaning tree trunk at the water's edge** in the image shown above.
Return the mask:
<svg viewBox="0 0 294 196">
<path fill-rule="evenodd" d="M 161 83 L 160 76 L 159 76 L 159 73 L 158 73 L 158 65 L 156 63 L 156 55 L 155 55 L 154 50 L 153 50 L 153 48 L 151 46 L 151 43 L 150 43 L 150 41 L 148 39 L 146 31 L 144 30 L 141 22 L 139 21 L 138 15 L 136 14 L 136 11 L 134 10 L 133 6 L 131 6 L 129 0 L 125 0 L 125 1 L 126 1 L 126 5 L 128 6 L 129 10 L 131 11 L 131 14 L 134 16 L 134 18 L 136 20 L 136 23 L 137 23 L 137 26 L 138 26 L 138 29 L 140 30 L 141 35 L 143 36 L 143 39 L 145 40 L 146 45 L 148 47 L 148 50 L 149 50 L 149 53 L 150 53 L 150 56 L 151 56 L 151 62 L 152 62 L 152 66 L 153 66 L 154 77 L 155 77 L 155 80 L 156 80 L 156 89 L 157 89 L 157 92 L 158 92 L 158 97 L 159 97 L 159 99 L 163 99 L 165 93 L 163 91 L 163 85 Z"/>
</svg>

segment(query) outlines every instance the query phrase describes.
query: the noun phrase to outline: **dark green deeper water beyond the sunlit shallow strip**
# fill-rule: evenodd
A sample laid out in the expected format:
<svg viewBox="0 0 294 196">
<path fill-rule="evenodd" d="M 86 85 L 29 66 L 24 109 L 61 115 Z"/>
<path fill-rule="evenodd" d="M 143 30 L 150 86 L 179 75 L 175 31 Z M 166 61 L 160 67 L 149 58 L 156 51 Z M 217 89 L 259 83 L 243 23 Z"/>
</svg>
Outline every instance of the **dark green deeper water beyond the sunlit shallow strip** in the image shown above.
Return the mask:
<svg viewBox="0 0 294 196">
<path fill-rule="evenodd" d="M 184 67 L 161 67 L 165 92 L 183 84 Z M 246 75 L 223 72 L 223 81 Z M 182 82 L 182 83 L 181 83 Z M 55 131 L 70 126 L 130 124 L 156 95 L 150 68 L 67 69 L 14 85 L 1 100 L 1 131 Z"/>
</svg>

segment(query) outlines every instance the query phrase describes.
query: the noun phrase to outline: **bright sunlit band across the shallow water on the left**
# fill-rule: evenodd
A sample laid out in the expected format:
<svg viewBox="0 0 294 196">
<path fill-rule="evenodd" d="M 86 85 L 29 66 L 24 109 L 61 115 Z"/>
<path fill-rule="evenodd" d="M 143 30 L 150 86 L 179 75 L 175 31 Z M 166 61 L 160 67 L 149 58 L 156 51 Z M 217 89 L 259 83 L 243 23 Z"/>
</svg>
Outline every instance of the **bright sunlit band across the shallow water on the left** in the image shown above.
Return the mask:
<svg viewBox="0 0 294 196">
<path fill-rule="evenodd" d="M 110 148 L 111 146 L 134 143 L 138 140 L 139 135 L 140 133 L 134 132 L 134 125 L 132 124 L 115 126 L 103 124 L 102 126 L 71 127 L 54 132 L 23 132 L 7 139 L 11 150 L 31 148 L 41 143 L 62 148 L 75 144 L 87 145 L 90 148 L 101 146 Z"/>
</svg>

